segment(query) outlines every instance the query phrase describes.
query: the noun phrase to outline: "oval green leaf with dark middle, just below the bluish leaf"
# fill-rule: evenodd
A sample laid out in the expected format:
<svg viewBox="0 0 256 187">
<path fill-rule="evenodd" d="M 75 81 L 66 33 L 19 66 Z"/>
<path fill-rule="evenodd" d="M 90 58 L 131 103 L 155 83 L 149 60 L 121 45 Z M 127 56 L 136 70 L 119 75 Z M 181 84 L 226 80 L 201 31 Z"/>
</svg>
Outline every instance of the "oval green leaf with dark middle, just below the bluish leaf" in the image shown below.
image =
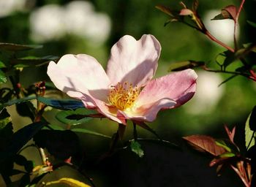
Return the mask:
<svg viewBox="0 0 256 187">
<path fill-rule="evenodd" d="M 92 118 L 88 115 L 91 114 L 95 114 L 94 110 L 88 110 L 83 107 L 76 110 L 65 110 L 58 112 L 55 117 L 62 123 L 75 126 L 90 121 Z"/>
</svg>

